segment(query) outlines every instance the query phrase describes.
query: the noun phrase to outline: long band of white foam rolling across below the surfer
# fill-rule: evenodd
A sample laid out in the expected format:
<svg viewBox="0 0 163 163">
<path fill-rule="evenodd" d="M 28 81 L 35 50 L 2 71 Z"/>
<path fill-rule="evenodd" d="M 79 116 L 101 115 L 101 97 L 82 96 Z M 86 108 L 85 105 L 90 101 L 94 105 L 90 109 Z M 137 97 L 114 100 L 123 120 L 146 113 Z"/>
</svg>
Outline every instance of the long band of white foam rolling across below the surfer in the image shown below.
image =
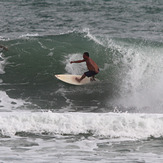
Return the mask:
<svg viewBox="0 0 163 163">
<path fill-rule="evenodd" d="M 146 139 L 163 136 L 163 115 L 128 113 L 29 113 L 0 114 L 3 135 L 17 132 L 92 134 L 96 137 Z"/>
</svg>

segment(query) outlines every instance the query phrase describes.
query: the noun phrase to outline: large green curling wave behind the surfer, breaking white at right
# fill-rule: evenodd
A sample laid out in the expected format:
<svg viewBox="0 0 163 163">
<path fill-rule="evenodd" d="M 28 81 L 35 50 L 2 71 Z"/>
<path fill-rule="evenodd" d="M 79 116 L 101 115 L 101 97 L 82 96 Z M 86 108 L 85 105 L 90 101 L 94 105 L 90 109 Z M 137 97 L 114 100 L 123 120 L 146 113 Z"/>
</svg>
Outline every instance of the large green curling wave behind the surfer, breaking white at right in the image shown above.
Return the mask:
<svg viewBox="0 0 163 163">
<path fill-rule="evenodd" d="M 41 109 L 162 112 L 161 43 L 97 37 L 86 30 L 54 36 L 27 34 L 3 44 L 9 51 L 3 52 L 1 88 L 12 98 L 27 99 Z M 73 87 L 54 78 L 54 74 L 86 71 L 85 64 L 70 64 L 84 51 L 100 67 L 97 89 Z"/>
</svg>

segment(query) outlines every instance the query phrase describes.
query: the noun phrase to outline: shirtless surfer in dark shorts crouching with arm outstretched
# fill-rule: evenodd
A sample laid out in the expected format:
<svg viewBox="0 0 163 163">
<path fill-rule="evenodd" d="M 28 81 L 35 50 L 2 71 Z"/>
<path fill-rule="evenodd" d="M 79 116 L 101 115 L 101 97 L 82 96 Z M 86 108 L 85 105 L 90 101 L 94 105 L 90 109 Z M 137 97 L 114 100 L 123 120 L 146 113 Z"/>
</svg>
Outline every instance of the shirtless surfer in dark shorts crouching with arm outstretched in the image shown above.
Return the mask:
<svg viewBox="0 0 163 163">
<path fill-rule="evenodd" d="M 87 68 L 89 71 L 85 72 L 81 78 L 76 78 L 78 82 L 81 82 L 86 76 L 92 77 L 91 80 L 95 80 L 95 75 L 99 73 L 99 67 L 98 65 L 89 57 L 88 52 L 84 52 L 83 59 L 77 60 L 77 61 L 71 61 L 70 63 L 81 63 L 86 62 Z"/>
</svg>

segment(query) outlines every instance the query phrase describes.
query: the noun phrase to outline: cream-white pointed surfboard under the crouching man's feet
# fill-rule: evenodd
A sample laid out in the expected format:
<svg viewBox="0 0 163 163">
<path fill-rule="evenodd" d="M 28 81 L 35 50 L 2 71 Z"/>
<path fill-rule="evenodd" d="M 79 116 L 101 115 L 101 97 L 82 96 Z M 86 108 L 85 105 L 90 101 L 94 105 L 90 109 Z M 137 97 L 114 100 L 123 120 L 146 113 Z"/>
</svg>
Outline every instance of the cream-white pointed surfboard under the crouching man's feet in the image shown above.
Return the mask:
<svg viewBox="0 0 163 163">
<path fill-rule="evenodd" d="M 59 74 L 55 75 L 55 77 L 65 83 L 72 85 L 85 85 L 99 81 L 96 78 L 95 81 L 91 81 L 91 78 L 85 77 L 81 82 L 78 82 L 76 78 L 81 78 L 81 75 L 71 75 L 71 74 Z"/>
</svg>

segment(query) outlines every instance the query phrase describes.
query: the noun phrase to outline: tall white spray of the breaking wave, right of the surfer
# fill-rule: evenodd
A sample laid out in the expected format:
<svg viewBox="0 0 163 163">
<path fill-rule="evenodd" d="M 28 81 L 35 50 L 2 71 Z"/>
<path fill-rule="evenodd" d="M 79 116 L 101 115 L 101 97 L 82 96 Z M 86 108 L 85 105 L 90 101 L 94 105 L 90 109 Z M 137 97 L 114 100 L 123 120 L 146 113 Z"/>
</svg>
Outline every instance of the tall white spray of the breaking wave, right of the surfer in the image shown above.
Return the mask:
<svg viewBox="0 0 163 163">
<path fill-rule="evenodd" d="M 121 95 L 116 104 L 124 107 L 150 108 L 162 110 L 162 50 L 145 45 L 125 45 L 114 47 L 123 54 L 121 61 Z"/>
</svg>

